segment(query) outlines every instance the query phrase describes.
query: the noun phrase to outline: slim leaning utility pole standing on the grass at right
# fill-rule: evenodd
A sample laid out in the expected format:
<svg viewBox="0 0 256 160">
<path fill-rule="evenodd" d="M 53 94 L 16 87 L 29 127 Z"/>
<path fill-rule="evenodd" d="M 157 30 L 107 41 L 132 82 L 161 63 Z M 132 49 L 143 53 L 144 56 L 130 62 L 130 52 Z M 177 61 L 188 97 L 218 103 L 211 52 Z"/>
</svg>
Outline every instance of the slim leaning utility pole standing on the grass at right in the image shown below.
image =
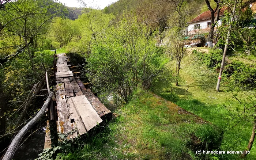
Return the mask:
<svg viewBox="0 0 256 160">
<path fill-rule="evenodd" d="M 226 59 L 226 53 L 227 53 L 227 45 L 229 43 L 229 36 L 230 36 L 230 30 L 231 30 L 231 23 L 234 20 L 234 12 L 236 10 L 236 5 L 237 5 L 237 0 L 235 0 L 234 3 L 234 8 L 233 11 L 231 13 L 231 19 L 230 19 L 230 23 L 229 23 L 229 31 L 227 32 L 227 38 L 226 38 L 226 43 L 225 43 L 225 47 L 224 47 L 224 52 L 223 52 L 223 57 L 222 57 L 222 61 L 221 61 L 221 68 L 219 69 L 219 77 L 218 77 L 218 82 L 217 82 L 217 87 L 216 87 L 216 91 L 219 92 L 219 85 L 221 83 L 221 76 L 222 76 L 222 72 L 223 72 L 223 68 L 224 68 L 224 64 L 225 64 L 225 59 Z"/>
</svg>

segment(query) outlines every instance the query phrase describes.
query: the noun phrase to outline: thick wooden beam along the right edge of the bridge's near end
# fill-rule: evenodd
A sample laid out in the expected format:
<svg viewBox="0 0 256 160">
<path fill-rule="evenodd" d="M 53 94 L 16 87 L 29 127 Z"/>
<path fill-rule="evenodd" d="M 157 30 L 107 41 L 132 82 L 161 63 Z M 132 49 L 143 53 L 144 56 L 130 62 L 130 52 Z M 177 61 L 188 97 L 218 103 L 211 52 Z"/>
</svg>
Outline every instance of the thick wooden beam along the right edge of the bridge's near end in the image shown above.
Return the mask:
<svg viewBox="0 0 256 160">
<path fill-rule="evenodd" d="M 99 117 L 101 117 L 103 121 L 111 119 L 112 118 L 111 111 L 108 108 L 106 108 L 103 103 L 101 103 L 98 97 L 95 96 L 90 89 L 86 89 L 84 87 L 84 84 L 81 80 L 78 79 L 76 81 L 79 87 L 81 88 L 83 95 L 86 96 L 86 98 L 89 100 L 89 102 L 91 103 L 95 111 L 97 111 Z"/>
</svg>

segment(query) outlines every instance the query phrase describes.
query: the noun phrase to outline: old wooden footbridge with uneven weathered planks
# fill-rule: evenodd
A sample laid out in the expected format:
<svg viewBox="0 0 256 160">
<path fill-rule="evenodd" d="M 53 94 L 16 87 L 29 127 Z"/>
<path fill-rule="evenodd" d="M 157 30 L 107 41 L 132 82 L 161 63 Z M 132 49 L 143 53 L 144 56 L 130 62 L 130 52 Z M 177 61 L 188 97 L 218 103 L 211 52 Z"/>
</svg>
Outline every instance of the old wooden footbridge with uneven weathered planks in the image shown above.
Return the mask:
<svg viewBox="0 0 256 160">
<path fill-rule="evenodd" d="M 84 86 L 76 73 L 70 70 L 69 58 L 65 54 L 56 56 L 57 61 L 54 57 L 54 76 L 56 77 L 57 106 L 53 109 L 48 107 L 46 111 L 49 121 L 46 127 L 45 148 L 50 147 L 50 135 L 56 137 L 57 133 L 62 133 L 68 135 L 67 138 L 83 136 L 112 118 L 110 110 Z M 56 138 L 54 141 L 57 143 Z"/>
</svg>

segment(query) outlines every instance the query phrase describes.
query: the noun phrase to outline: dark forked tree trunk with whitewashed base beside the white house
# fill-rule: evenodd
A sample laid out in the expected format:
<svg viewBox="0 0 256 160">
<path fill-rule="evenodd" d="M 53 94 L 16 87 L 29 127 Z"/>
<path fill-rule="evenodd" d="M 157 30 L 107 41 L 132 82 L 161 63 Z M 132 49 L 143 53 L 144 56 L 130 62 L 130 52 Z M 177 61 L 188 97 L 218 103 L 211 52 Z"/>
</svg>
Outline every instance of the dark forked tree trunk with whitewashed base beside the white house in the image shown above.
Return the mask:
<svg viewBox="0 0 256 160">
<path fill-rule="evenodd" d="M 221 7 L 220 7 L 221 0 L 214 0 L 214 2 L 216 3 L 215 9 L 212 9 L 209 0 L 205 0 L 205 2 L 207 4 L 209 11 L 211 12 L 211 27 L 210 27 L 210 32 L 207 38 L 207 44 L 209 47 L 212 47 L 213 46 L 212 42 L 214 38 L 214 28 L 219 20 L 219 13 L 221 11 Z"/>
</svg>

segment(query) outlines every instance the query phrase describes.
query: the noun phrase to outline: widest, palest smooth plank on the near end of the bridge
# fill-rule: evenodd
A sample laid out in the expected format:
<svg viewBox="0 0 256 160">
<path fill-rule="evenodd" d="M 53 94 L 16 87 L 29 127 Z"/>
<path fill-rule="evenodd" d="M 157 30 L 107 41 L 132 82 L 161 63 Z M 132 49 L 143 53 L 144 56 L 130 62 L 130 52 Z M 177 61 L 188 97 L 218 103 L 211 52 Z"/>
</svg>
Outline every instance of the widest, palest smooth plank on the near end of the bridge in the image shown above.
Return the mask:
<svg viewBox="0 0 256 160">
<path fill-rule="evenodd" d="M 103 122 L 84 95 L 73 97 L 73 99 L 87 132 Z"/>
</svg>

